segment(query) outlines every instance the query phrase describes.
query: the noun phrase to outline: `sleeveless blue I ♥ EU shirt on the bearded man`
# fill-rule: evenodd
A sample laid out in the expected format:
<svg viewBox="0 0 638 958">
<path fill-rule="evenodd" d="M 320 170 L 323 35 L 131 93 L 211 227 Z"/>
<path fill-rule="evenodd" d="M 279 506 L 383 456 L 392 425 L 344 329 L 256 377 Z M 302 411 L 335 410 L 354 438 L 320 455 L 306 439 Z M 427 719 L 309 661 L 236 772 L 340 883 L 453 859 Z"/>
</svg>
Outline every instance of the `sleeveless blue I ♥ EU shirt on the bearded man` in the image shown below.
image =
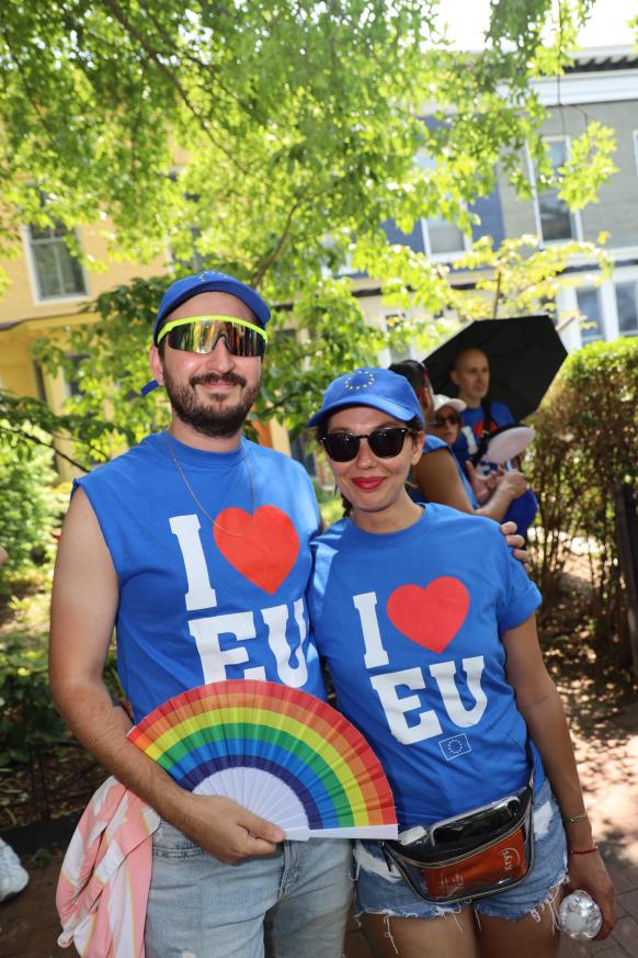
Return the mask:
<svg viewBox="0 0 638 958">
<path fill-rule="evenodd" d="M 160 432 L 78 484 L 117 573 L 117 665 L 136 721 L 227 678 L 324 697 L 305 602 L 319 510 L 298 463 L 247 440 L 204 452 Z"/>
</svg>

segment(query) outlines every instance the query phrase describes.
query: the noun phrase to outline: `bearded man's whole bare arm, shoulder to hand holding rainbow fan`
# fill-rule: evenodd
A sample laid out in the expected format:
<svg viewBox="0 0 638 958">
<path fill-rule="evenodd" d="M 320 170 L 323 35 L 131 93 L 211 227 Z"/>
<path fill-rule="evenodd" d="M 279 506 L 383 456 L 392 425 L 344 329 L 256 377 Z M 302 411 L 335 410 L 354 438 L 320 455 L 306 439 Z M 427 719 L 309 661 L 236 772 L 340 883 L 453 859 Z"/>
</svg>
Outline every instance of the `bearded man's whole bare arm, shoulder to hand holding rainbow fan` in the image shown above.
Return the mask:
<svg viewBox="0 0 638 958">
<path fill-rule="evenodd" d="M 83 491 L 62 527 L 52 597 L 49 670 L 56 708 L 98 762 L 193 842 L 235 863 L 270 855 L 284 838 L 277 825 L 236 802 L 180 788 L 126 739 L 119 709 L 103 681 L 119 594 L 115 568 Z"/>
</svg>

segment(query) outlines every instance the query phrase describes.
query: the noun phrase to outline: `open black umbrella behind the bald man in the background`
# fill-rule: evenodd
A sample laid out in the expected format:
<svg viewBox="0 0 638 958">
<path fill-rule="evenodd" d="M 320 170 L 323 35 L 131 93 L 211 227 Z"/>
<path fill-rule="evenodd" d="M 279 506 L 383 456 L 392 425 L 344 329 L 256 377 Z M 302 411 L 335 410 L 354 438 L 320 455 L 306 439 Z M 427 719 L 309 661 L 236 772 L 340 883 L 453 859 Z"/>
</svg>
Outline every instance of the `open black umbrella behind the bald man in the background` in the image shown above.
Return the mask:
<svg viewBox="0 0 638 958">
<path fill-rule="evenodd" d="M 482 349 L 487 354 L 489 397 L 505 403 L 517 420 L 538 408 L 567 357 L 546 313 L 509 319 L 476 319 L 423 360 L 435 393 L 456 395 L 449 370 L 464 349 Z"/>
</svg>

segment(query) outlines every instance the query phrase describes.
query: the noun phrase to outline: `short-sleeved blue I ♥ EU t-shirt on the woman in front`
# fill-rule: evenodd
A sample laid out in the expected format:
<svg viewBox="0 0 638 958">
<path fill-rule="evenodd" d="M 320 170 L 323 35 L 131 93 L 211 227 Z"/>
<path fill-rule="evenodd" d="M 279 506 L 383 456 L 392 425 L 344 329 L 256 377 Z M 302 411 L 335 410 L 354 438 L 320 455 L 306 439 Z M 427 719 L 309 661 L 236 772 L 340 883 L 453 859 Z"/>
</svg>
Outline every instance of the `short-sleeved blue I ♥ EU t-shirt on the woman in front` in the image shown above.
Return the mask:
<svg viewBox="0 0 638 958">
<path fill-rule="evenodd" d="M 399 826 L 522 788 L 527 729 L 501 635 L 540 597 L 495 522 L 429 505 L 400 532 L 372 534 L 344 519 L 312 549 L 316 642 L 338 708 L 388 776 Z"/>
</svg>

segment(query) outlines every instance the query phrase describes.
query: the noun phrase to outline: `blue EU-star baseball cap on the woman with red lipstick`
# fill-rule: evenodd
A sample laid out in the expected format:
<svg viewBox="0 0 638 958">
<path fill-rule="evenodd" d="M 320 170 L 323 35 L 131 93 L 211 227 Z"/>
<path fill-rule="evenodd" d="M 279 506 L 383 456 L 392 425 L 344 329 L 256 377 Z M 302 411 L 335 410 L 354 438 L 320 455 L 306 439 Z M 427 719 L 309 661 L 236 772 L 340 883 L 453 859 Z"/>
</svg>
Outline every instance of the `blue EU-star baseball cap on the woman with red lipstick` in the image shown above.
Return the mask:
<svg viewBox="0 0 638 958">
<path fill-rule="evenodd" d="M 372 406 L 402 422 L 415 417 L 423 424 L 414 390 L 407 379 L 388 369 L 363 367 L 333 380 L 323 393 L 321 408 L 307 425 L 317 426 L 330 413 L 344 406 Z"/>
</svg>

